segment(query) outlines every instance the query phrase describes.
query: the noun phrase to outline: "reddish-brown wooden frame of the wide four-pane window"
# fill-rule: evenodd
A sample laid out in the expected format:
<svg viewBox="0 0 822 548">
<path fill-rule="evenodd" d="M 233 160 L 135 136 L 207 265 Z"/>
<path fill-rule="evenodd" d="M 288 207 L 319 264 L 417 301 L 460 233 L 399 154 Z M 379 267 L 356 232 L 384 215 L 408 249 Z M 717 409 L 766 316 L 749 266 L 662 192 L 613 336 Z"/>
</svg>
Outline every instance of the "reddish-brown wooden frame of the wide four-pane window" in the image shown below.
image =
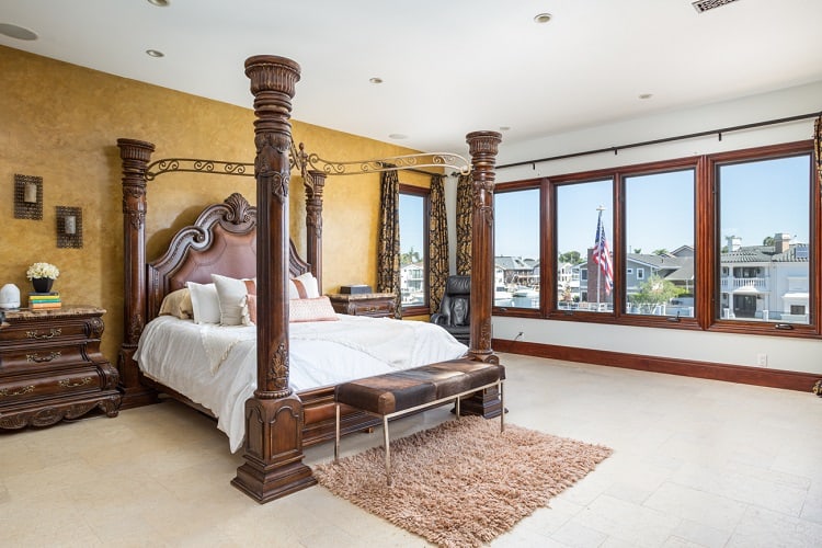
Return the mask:
<svg viewBox="0 0 822 548">
<path fill-rule="evenodd" d="M 715 306 L 719 298 L 720 263 L 718 170 L 719 167 L 745 161 L 767 160 L 790 156 L 810 157 L 809 208 L 809 305 L 811 318 L 808 324 L 791 323 L 789 328 L 777 322 L 723 320 L 718 317 Z M 695 317 L 673 318 L 647 315 L 626 313 L 626 219 L 625 219 L 625 178 L 643 174 L 662 173 L 693 169 L 694 181 L 694 289 Z M 567 310 L 557 308 L 557 216 L 553 208 L 557 204 L 557 189 L 564 184 L 580 184 L 586 181 L 612 179 L 614 184 L 613 207 L 614 235 L 609 240 L 614 254 L 614 310 L 612 312 L 592 312 L 585 310 Z M 803 140 L 781 145 L 755 147 L 743 150 L 719 152 L 692 158 L 648 162 L 605 170 L 594 170 L 550 178 L 529 179 L 499 183 L 498 193 L 517 190 L 540 189 L 540 308 L 493 308 L 494 316 L 518 318 L 540 318 L 562 321 L 582 321 L 591 323 L 613 323 L 620 326 L 640 326 L 666 329 L 688 329 L 740 334 L 763 334 L 776 336 L 820 338 L 822 335 L 822 190 L 813 162 L 813 141 Z"/>
</svg>

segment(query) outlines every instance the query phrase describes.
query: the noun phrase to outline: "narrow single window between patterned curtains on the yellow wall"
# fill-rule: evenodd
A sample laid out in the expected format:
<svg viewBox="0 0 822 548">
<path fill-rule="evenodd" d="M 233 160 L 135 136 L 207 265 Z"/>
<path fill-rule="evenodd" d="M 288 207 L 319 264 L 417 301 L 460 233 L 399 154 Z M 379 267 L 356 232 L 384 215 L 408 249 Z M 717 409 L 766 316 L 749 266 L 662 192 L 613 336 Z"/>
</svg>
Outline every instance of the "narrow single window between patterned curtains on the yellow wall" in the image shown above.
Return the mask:
<svg viewBox="0 0 822 548">
<path fill-rule="evenodd" d="M 400 294 L 403 315 L 429 313 L 427 189 L 400 185 Z"/>
</svg>

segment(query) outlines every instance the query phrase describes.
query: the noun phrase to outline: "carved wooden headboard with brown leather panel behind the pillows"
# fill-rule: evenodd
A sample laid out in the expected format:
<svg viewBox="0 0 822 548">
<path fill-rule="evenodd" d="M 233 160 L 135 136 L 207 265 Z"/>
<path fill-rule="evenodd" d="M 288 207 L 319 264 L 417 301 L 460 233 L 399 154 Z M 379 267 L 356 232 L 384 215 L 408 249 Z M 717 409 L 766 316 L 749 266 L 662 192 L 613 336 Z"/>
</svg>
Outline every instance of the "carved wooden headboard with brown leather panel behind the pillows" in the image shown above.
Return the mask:
<svg viewBox="0 0 822 548">
<path fill-rule="evenodd" d="M 310 265 L 289 243 L 289 275 L 297 277 Z M 209 284 L 212 274 L 256 277 L 256 207 L 239 193 L 206 207 L 194 225 L 174 235 L 165 254 L 146 266 L 148 320 L 157 317 L 163 297 L 186 282 Z"/>
</svg>

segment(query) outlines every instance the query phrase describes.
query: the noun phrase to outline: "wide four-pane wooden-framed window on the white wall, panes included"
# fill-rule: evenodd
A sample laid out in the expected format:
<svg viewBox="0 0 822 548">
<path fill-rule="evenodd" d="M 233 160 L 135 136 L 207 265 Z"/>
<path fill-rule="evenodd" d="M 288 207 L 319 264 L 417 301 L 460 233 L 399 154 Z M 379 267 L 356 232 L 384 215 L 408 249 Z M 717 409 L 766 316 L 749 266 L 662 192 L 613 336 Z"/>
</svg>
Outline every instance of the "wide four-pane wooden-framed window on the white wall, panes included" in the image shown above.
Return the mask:
<svg viewBox="0 0 822 548">
<path fill-rule="evenodd" d="M 808 140 L 504 183 L 496 194 L 498 255 L 524 253 L 506 246 L 541 231 L 548 263 L 541 308 L 512 305 L 506 313 L 819 336 L 815 182 Z"/>
</svg>

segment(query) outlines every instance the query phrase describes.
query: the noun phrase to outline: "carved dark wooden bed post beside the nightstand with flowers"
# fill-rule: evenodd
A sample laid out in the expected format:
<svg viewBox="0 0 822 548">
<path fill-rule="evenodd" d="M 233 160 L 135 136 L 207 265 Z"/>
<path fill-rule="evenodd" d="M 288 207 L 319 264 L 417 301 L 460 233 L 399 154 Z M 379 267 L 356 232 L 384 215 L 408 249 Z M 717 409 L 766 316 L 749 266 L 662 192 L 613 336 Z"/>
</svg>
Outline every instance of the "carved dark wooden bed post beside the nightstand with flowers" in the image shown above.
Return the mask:
<svg viewBox="0 0 822 548">
<path fill-rule="evenodd" d="M 124 334 L 117 368 L 123 391 L 121 409 L 157 400 L 140 384 L 134 353 L 146 326 L 146 170 L 155 146 L 135 139 L 117 139 L 123 161 L 123 252 L 125 261 Z"/>
</svg>

